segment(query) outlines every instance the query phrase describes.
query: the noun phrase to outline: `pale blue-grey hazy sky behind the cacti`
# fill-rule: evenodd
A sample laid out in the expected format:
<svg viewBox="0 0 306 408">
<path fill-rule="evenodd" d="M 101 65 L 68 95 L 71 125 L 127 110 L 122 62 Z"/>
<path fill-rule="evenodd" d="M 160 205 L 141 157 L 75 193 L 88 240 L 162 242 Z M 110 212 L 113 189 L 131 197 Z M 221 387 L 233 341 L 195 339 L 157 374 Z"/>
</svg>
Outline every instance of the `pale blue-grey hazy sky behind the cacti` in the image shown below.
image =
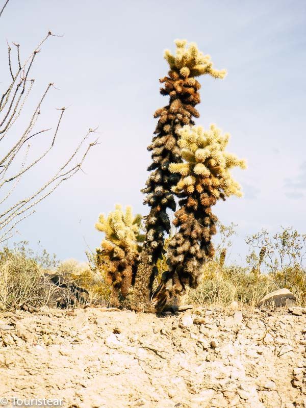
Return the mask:
<svg viewBox="0 0 306 408">
<path fill-rule="evenodd" d="M 4 0 L 0 0 L 0 8 Z M 42 184 L 87 130 L 98 126 L 99 144 L 79 172 L 47 197 L 23 221 L 10 244 L 28 240 L 58 259 L 86 259 L 99 246 L 99 213 L 116 203 L 143 215 L 144 187 L 156 109 L 167 105 L 159 78 L 167 74 L 166 48 L 174 39 L 196 42 L 210 54 L 224 80 L 199 78 L 201 103 L 196 124 L 216 123 L 231 134 L 228 150 L 247 161 L 235 170 L 243 198 L 218 203 L 214 213 L 237 225 L 232 260 L 243 262 L 244 239 L 261 228 L 281 226 L 306 233 L 305 67 L 306 3 L 247 0 L 10 0 L 0 19 L 0 92 L 9 80 L 7 41 L 19 42 L 25 58 L 48 31 L 32 77 L 36 79 L 24 119 L 45 86 L 54 82 L 37 129 L 56 126 L 69 107 L 54 151 L 22 179 L 18 194 Z M 33 144 L 38 154 L 47 138 Z M 46 144 L 45 144 L 46 143 Z M 218 237 L 216 237 L 218 240 Z"/>
</svg>

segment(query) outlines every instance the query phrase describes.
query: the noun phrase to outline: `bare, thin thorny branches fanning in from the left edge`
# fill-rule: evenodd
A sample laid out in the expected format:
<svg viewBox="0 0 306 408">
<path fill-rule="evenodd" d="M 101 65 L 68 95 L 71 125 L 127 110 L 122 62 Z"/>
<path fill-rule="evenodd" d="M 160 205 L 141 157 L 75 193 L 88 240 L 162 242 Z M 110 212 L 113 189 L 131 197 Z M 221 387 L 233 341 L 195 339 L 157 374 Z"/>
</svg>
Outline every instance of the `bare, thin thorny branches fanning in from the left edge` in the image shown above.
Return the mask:
<svg viewBox="0 0 306 408">
<path fill-rule="evenodd" d="M 2 15 L 8 1 L 5 2 L 0 16 Z M 55 126 L 55 131 L 49 140 L 48 146 L 37 157 L 28 161 L 31 145 L 35 143 L 39 135 L 49 132 L 51 129 L 36 129 L 35 125 L 41 115 L 44 100 L 50 89 L 54 88 L 53 83 L 49 83 L 38 99 L 37 105 L 28 123 L 21 132 L 18 130 L 18 118 L 27 106 L 28 98 L 34 89 L 35 80 L 30 78 L 31 69 L 37 60 L 41 46 L 50 37 L 55 35 L 48 32 L 33 50 L 28 58 L 21 61 L 20 46 L 13 43 L 16 49 L 16 64 L 12 60 L 12 48 L 8 45 L 8 72 L 10 80 L 7 86 L 4 85 L 2 97 L 0 97 L 0 243 L 12 237 L 15 233 L 16 225 L 24 218 L 29 217 L 34 212 L 36 205 L 58 188 L 64 181 L 68 180 L 75 173 L 79 172 L 81 166 L 88 155 L 89 150 L 95 142 L 89 143 L 77 164 L 72 164 L 75 156 L 83 147 L 92 129 L 83 137 L 79 145 L 68 156 L 65 163 L 59 167 L 58 171 L 50 177 L 41 187 L 30 191 L 28 196 L 18 196 L 18 183 L 25 174 L 36 169 L 47 156 L 48 152 L 56 145 L 60 124 L 63 120 L 65 108 L 59 109 L 59 119 Z M 14 198 L 13 193 L 16 193 Z M 7 205 L 8 199 L 11 203 Z"/>
</svg>

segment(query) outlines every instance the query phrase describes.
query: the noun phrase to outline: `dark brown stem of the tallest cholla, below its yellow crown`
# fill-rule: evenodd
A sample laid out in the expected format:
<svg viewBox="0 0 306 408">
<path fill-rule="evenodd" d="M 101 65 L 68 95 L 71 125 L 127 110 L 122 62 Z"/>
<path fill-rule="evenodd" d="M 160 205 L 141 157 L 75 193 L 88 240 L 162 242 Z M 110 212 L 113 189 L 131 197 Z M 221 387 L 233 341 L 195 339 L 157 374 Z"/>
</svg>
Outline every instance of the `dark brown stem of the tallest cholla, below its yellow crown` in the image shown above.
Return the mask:
<svg viewBox="0 0 306 408">
<path fill-rule="evenodd" d="M 148 204 L 151 209 L 145 217 L 147 235 L 134 286 L 134 291 L 138 294 L 135 302 L 145 303 L 145 309 L 150 310 L 148 305 L 157 273 L 156 263 L 165 252 L 164 237 L 171 228 L 167 209 L 176 209 L 171 187 L 180 180 L 179 174 L 169 171 L 169 164 L 182 162 L 181 150 L 177 145 L 180 137 L 178 132 L 185 124 L 194 124 L 192 117 L 199 117 L 194 107 L 200 102 L 198 90 L 201 87 L 194 78 L 184 78 L 173 70 L 160 82 L 165 84 L 161 88 L 161 94 L 169 95 L 170 101 L 169 105 L 154 114 L 154 117 L 160 119 L 154 132 L 156 136 L 148 146 L 148 150 L 152 152 L 152 164 L 147 170 L 151 173 L 146 182 L 147 187 L 142 190 L 146 194 L 143 203 Z"/>
</svg>

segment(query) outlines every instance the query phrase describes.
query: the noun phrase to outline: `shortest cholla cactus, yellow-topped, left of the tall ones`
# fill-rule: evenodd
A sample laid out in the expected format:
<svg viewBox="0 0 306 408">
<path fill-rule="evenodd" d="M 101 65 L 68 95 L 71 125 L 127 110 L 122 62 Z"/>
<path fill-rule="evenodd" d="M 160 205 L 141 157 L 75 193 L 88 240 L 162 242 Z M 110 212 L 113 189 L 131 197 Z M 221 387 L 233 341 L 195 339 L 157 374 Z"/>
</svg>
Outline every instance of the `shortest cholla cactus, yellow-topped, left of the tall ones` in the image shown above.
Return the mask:
<svg viewBox="0 0 306 408">
<path fill-rule="evenodd" d="M 107 218 L 100 214 L 95 227 L 105 233 L 101 247 L 96 249 L 98 264 L 106 271 L 112 285 L 111 304 L 118 306 L 119 295 L 124 298 L 131 287 L 140 244 L 144 240 L 141 215 L 133 217 L 131 207 L 126 207 L 123 213 L 121 206 L 117 205 Z"/>
</svg>

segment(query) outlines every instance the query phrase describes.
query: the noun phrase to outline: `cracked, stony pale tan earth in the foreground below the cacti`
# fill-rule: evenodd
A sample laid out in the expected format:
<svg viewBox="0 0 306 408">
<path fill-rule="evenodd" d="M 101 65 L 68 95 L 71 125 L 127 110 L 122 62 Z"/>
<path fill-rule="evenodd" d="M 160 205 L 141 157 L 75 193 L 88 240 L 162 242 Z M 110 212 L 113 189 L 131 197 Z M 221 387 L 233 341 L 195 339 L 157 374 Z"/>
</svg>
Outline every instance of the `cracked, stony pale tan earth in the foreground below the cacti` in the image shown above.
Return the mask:
<svg viewBox="0 0 306 408">
<path fill-rule="evenodd" d="M 7 312 L 0 397 L 62 398 L 67 408 L 306 407 L 305 312 Z"/>
</svg>

